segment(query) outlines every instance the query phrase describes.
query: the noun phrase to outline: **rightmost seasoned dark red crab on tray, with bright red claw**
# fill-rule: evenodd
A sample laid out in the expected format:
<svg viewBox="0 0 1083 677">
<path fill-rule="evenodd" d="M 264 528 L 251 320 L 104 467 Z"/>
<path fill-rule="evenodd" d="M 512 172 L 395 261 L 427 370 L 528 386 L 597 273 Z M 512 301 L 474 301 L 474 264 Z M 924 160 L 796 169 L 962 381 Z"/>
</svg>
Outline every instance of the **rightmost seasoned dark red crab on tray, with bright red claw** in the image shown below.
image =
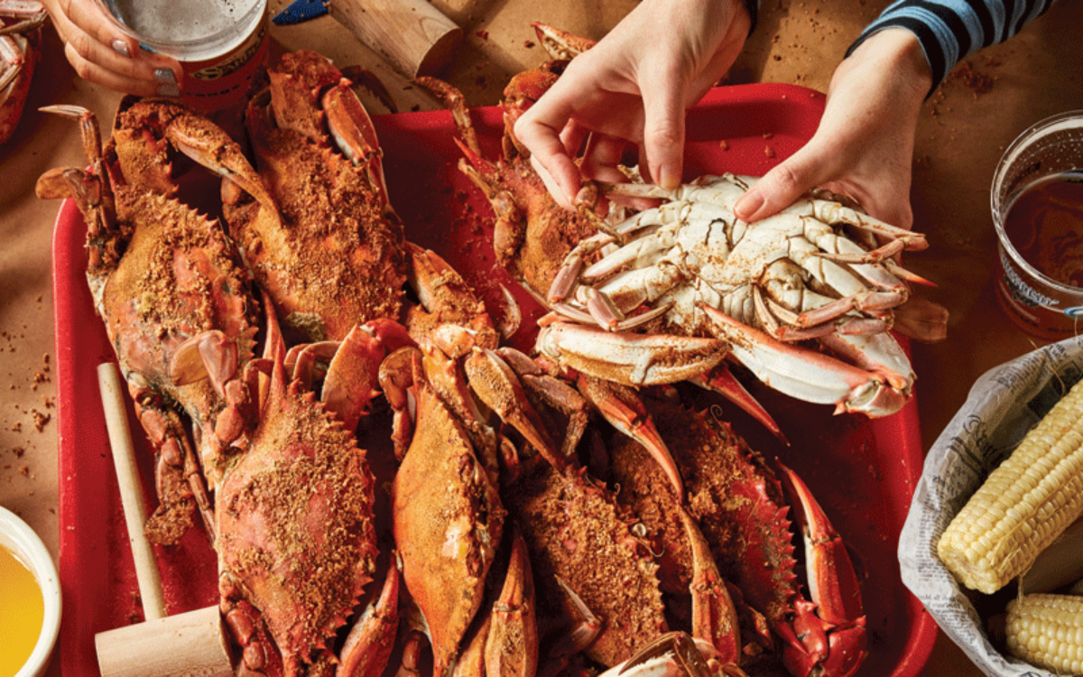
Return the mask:
<svg viewBox="0 0 1083 677">
<path fill-rule="evenodd" d="M 675 495 L 630 441 L 617 442 L 606 480 L 622 487 L 621 504 L 639 517 L 658 554 L 663 589 L 687 590 L 694 580 L 695 545 L 679 517 L 683 504 L 709 546 L 707 557 L 740 590 L 743 662 L 777 656 L 799 677 L 854 674 L 867 654 L 861 589 L 843 539 L 808 486 L 781 463 L 772 468 L 707 412 L 644 402 L 681 468 L 687 495 Z M 804 567 L 792 519 L 805 542 Z"/>
</svg>

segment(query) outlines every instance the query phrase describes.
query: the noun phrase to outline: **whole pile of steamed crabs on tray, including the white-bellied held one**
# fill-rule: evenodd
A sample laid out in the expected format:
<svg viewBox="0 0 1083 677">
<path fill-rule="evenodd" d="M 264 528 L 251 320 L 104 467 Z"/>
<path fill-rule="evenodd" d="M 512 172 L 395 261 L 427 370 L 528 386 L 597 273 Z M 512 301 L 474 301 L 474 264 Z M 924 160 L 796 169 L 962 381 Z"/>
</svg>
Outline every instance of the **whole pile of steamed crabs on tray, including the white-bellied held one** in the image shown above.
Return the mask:
<svg viewBox="0 0 1083 677">
<path fill-rule="evenodd" d="M 897 411 L 914 377 L 888 329 L 914 278 L 892 255 L 924 242 L 811 196 L 745 224 L 753 179 L 732 175 L 598 186 L 660 203 L 624 218 L 561 210 L 510 134 L 561 63 L 509 86 L 495 161 L 459 93 L 423 82 L 494 206 L 498 260 L 551 311 L 533 354 L 406 239 L 371 121 L 324 57 L 273 66 L 240 140 L 167 101 L 126 100 L 105 142 L 90 112 L 52 108 L 89 168 L 37 190 L 87 222 L 156 455 L 146 531 L 209 534 L 238 674 L 804 677 L 866 655 L 858 577 L 807 487 L 673 385 L 773 426 L 736 360 L 805 400 Z M 198 166 L 211 208 L 188 199 Z"/>
</svg>

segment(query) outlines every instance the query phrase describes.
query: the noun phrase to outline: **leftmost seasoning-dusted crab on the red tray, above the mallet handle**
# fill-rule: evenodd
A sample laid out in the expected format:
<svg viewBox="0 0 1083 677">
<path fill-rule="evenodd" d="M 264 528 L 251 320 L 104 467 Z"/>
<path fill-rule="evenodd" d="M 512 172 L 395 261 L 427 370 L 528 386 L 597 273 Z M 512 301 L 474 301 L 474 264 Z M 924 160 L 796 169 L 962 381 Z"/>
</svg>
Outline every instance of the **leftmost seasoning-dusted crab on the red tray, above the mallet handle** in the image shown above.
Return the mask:
<svg viewBox="0 0 1083 677">
<path fill-rule="evenodd" d="M 82 129 L 90 169 L 51 170 L 37 193 L 73 197 L 87 222 L 94 307 L 157 458 L 160 505 L 147 535 L 177 543 L 197 506 L 213 534 L 201 466 L 213 468 L 252 416 L 258 310 L 222 225 L 174 197 L 173 166 L 183 152 L 217 173 L 257 186 L 259 178 L 225 132 L 173 103 L 126 100 L 104 148 L 91 112 L 47 110 Z M 201 463 L 182 412 L 193 422 Z"/>
</svg>

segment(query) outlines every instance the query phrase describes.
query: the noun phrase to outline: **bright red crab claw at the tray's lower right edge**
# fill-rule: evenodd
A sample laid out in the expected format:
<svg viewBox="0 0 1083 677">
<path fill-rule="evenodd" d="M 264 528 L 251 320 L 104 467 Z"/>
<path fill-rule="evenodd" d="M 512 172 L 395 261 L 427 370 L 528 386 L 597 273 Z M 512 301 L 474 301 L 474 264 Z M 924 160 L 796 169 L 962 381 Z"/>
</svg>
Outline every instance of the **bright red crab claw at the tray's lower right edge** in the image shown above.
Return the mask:
<svg viewBox="0 0 1083 677">
<path fill-rule="evenodd" d="M 801 528 L 809 596 L 798 600 L 792 630 L 775 628 L 785 641 L 783 662 L 797 677 L 849 677 L 867 655 L 861 588 L 853 564 L 823 509 L 804 481 L 779 464 L 786 490 L 796 497 L 795 521 Z"/>
</svg>

